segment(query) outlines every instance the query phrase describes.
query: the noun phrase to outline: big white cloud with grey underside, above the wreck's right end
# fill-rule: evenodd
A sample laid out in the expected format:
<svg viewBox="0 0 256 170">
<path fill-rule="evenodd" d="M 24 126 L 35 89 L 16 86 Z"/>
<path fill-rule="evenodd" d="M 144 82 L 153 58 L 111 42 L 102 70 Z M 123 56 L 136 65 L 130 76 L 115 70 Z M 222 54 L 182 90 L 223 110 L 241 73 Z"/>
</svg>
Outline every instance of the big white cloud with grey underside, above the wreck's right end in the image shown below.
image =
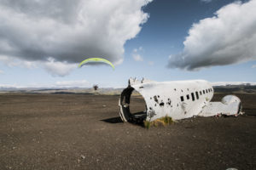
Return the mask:
<svg viewBox="0 0 256 170">
<path fill-rule="evenodd" d="M 189 30 L 183 52 L 170 55 L 168 67 L 196 71 L 256 59 L 256 0 L 230 3 L 216 16 Z"/>
</svg>

